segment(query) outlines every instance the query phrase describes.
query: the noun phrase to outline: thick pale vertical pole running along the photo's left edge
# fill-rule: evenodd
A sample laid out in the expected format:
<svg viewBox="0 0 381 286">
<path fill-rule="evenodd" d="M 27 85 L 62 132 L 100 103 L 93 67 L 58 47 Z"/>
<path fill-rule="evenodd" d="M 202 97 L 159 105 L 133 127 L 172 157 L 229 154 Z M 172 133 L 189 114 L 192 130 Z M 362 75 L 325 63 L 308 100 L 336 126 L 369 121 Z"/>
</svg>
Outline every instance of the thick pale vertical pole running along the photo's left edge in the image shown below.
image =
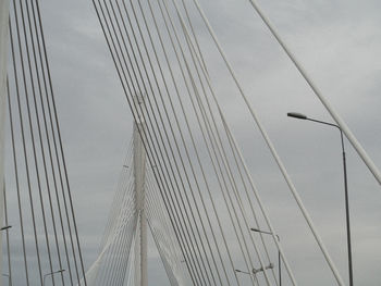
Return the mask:
<svg viewBox="0 0 381 286">
<path fill-rule="evenodd" d="M 4 186 L 4 125 L 7 100 L 7 59 L 9 39 L 9 0 L 0 0 L 0 188 Z M 0 226 L 3 226 L 4 197 L 0 189 Z M 2 245 L 2 232 L 0 232 L 0 246 Z M 0 258 L 2 248 L 0 247 Z M 2 273 L 2 259 L 0 259 L 0 273 Z M 2 279 L 0 279 L 2 286 Z"/>
</svg>

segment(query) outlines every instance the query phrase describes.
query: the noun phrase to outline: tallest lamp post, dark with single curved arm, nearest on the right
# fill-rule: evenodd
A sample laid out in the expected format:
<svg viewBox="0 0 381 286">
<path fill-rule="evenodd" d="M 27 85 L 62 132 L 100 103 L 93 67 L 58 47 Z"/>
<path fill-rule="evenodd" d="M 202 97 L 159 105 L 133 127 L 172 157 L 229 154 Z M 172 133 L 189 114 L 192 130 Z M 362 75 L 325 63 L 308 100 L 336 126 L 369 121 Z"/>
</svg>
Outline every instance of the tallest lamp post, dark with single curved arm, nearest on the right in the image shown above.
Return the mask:
<svg viewBox="0 0 381 286">
<path fill-rule="evenodd" d="M 336 127 L 340 130 L 341 142 L 342 142 L 342 151 L 343 151 L 343 172 L 344 172 L 344 191 L 345 191 L 345 217 L 346 217 L 346 243 L 348 249 L 348 273 L 349 273 L 349 286 L 353 286 L 353 268 L 352 268 L 352 245 L 351 245 L 351 223 L 349 223 L 349 202 L 348 202 L 348 183 L 346 175 L 346 158 L 345 158 L 345 149 L 344 149 L 344 136 L 342 128 L 333 123 L 319 121 L 315 119 L 309 119 L 307 115 L 297 113 L 297 112 L 288 112 L 287 116 L 298 119 L 298 120 L 307 120 L 316 123 L 321 123 L 324 125 Z"/>
</svg>

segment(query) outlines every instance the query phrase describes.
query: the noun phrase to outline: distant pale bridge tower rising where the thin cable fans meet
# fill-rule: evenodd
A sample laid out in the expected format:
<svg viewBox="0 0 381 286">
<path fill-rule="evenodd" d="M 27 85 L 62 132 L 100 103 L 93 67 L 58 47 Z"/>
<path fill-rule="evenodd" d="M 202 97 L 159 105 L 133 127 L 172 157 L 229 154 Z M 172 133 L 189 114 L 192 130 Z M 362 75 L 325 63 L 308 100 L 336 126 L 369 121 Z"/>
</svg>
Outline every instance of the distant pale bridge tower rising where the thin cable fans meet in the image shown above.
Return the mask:
<svg viewBox="0 0 381 286">
<path fill-rule="evenodd" d="M 140 286 L 148 285 L 147 275 L 147 217 L 145 210 L 146 152 L 144 150 L 145 123 L 134 124 L 134 176 L 136 208 L 139 213 Z M 137 273 L 136 273 L 137 274 Z"/>
</svg>

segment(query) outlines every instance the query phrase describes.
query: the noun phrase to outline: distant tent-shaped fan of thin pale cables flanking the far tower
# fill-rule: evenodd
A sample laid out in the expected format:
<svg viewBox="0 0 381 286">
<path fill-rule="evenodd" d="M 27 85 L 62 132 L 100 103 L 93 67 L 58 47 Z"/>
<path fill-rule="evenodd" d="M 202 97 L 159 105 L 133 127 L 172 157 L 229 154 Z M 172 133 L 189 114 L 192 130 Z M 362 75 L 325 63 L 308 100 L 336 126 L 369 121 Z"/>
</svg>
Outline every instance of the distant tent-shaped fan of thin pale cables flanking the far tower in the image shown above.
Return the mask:
<svg viewBox="0 0 381 286">
<path fill-rule="evenodd" d="M 138 166 L 142 160 L 139 135 L 135 128 L 110 209 L 99 254 L 86 272 L 88 285 L 142 285 L 142 268 L 147 261 L 147 226 L 160 253 L 171 285 L 185 285 L 185 264 L 162 198 L 156 187 L 152 169 Z M 136 144 L 137 142 L 137 144 Z M 134 151 L 133 151 L 134 150 Z M 143 149 L 140 149 L 143 151 Z M 139 174 L 145 176 L 139 185 Z M 144 197 L 144 202 L 143 202 Z M 144 203 L 144 209 L 142 203 Z M 144 228 L 146 229 L 144 231 Z M 145 237 L 145 238 L 144 238 Z M 142 251 L 145 252 L 142 256 Z M 183 262 L 182 262 L 183 261 Z"/>
</svg>

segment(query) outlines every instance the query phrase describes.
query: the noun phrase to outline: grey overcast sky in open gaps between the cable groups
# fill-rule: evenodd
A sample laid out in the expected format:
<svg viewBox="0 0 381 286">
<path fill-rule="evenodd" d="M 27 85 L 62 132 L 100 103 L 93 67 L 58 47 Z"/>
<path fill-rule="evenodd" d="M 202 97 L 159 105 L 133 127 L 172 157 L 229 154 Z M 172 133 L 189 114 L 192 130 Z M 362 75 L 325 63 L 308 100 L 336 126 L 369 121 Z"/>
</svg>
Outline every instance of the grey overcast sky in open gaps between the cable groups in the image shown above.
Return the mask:
<svg viewBox="0 0 381 286">
<path fill-rule="evenodd" d="M 331 117 L 247 0 L 201 4 L 347 281 L 340 135 L 334 128 L 287 119 L 286 113 L 298 111 L 324 121 Z M 268 0 L 259 4 L 376 165 L 381 166 L 381 2 Z M 132 115 L 91 1 L 41 1 L 41 8 L 88 268 L 97 253 L 132 136 Z M 236 88 L 226 80 L 204 26 L 197 22 L 196 27 L 226 117 L 299 285 L 335 285 Z M 355 284 L 376 286 L 381 282 L 381 187 L 345 144 Z M 169 285 L 152 244 L 149 256 L 149 285 Z"/>
</svg>

